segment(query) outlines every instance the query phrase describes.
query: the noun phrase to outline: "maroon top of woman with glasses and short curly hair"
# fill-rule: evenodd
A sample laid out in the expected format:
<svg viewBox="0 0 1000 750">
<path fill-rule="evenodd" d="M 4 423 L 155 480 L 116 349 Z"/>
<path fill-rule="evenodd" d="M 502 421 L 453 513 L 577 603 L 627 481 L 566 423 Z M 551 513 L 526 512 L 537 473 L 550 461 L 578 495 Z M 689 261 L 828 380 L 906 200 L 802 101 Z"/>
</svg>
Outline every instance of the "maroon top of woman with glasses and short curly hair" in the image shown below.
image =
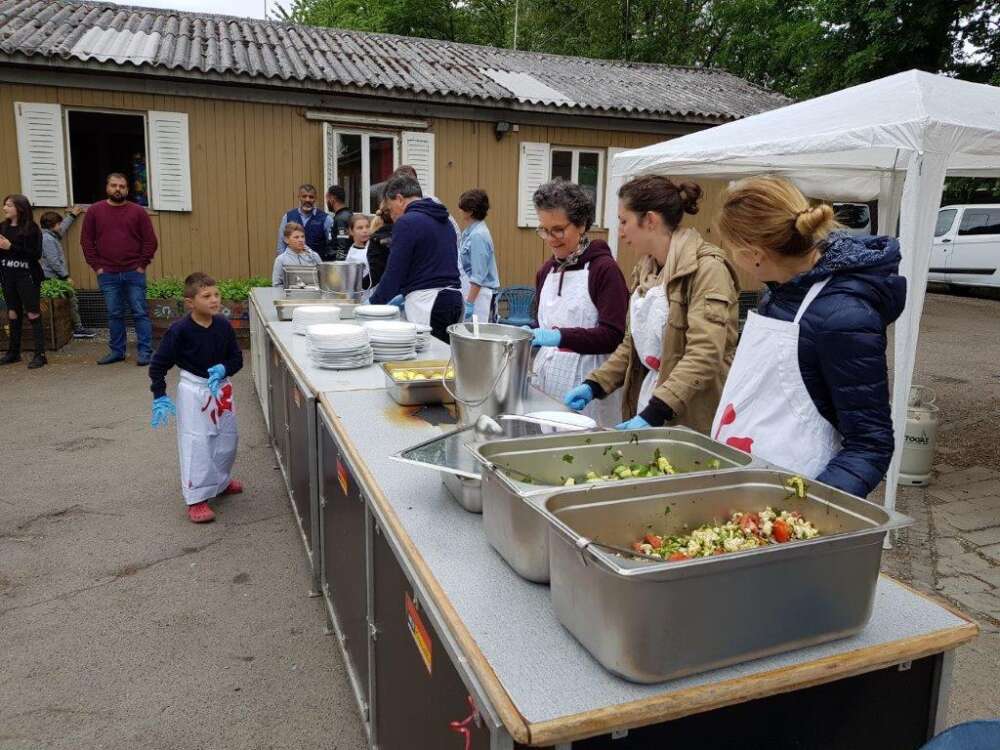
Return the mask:
<svg viewBox="0 0 1000 750">
<path fill-rule="evenodd" d="M 558 271 L 559 262 L 549 258 L 538 269 L 535 276 L 535 304 L 537 320 L 537 304 L 542 298 L 542 286 L 550 273 L 579 273 L 583 267 L 590 264 L 590 276 L 587 278 L 587 288 L 590 299 L 597 308 L 597 325 L 593 328 L 560 328 L 562 337 L 560 349 L 569 349 L 578 354 L 610 354 L 625 338 L 625 320 L 628 315 L 628 284 L 622 275 L 618 263 L 611 254 L 611 248 L 604 240 L 591 240 L 590 246 L 584 251 L 576 263 Z M 559 288 L 561 279 L 555 279 Z"/>
</svg>

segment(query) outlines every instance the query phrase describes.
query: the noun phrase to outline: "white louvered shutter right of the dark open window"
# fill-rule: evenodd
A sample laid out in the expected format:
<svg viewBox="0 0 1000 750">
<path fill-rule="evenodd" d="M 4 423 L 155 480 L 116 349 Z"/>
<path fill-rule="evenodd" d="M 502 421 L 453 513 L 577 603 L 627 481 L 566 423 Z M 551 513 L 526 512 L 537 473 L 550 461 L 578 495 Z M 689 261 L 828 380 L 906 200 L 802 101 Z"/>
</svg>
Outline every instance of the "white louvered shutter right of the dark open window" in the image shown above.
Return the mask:
<svg viewBox="0 0 1000 750">
<path fill-rule="evenodd" d="M 149 113 L 150 186 L 157 211 L 191 210 L 191 155 L 187 115 Z"/>
</svg>

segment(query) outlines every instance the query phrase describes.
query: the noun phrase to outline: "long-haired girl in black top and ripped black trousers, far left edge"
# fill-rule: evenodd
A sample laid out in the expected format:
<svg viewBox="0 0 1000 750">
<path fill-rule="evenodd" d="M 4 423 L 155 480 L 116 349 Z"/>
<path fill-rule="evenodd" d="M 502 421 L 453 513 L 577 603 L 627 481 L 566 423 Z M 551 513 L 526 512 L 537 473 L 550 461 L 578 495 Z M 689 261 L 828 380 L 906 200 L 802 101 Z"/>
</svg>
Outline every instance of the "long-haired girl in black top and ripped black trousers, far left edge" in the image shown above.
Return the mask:
<svg viewBox="0 0 1000 750">
<path fill-rule="evenodd" d="M 31 322 L 35 356 L 28 369 L 48 364 L 45 359 L 45 334 L 42 331 L 40 293 L 42 288 L 42 230 L 31 213 L 31 203 L 23 195 L 3 199 L 0 222 L 0 283 L 10 318 L 10 343 L 0 365 L 21 361 L 21 328 L 24 316 Z"/>
</svg>

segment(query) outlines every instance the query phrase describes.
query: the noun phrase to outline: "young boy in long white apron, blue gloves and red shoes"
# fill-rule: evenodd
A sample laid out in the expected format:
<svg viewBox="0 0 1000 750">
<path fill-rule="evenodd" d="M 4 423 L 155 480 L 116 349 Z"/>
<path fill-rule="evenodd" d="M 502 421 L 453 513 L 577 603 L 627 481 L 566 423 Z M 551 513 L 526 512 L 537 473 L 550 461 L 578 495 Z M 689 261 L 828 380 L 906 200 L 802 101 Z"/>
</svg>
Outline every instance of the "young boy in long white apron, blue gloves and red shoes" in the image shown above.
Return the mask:
<svg viewBox="0 0 1000 750">
<path fill-rule="evenodd" d="M 190 311 L 167 330 L 149 365 L 155 429 L 177 417 L 177 453 L 181 491 L 188 518 L 215 518 L 208 501 L 243 491 L 230 478 L 238 435 L 229 376 L 243 367 L 243 352 L 229 321 L 219 315 L 221 297 L 215 279 L 193 273 L 184 279 L 184 305 Z M 177 404 L 167 395 L 167 371 L 177 365 Z"/>
</svg>

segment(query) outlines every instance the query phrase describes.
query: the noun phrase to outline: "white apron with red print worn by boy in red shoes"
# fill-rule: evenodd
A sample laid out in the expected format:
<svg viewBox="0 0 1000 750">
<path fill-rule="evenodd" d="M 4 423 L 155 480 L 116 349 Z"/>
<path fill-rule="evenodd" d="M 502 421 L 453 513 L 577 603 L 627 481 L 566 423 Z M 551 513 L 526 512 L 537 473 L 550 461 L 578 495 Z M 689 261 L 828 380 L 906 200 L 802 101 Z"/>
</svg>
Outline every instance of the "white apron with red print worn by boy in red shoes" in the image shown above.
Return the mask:
<svg viewBox="0 0 1000 750">
<path fill-rule="evenodd" d="M 229 486 L 236 460 L 233 384 L 226 378 L 219 398 L 208 380 L 181 370 L 177 385 L 177 455 L 184 502 L 194 505 L 217 497 Z"/>
</svg>

